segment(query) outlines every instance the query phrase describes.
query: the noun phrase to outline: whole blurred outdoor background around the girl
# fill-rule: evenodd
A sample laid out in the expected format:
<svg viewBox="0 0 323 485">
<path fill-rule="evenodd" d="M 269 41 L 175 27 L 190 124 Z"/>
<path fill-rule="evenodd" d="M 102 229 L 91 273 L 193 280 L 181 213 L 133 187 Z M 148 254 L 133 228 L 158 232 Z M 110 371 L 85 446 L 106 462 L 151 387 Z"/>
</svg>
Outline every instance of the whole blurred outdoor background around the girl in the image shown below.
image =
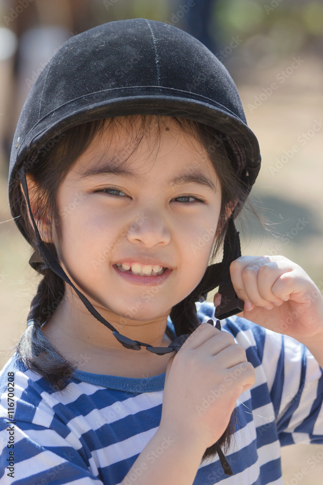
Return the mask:
<svg viewBox="0 0 323 485">
<path fill-rule="evenodd" d="M 105 22 L 138 17 L 197 37 L 238 87 L 262 154 L 251 198 L 273 232 L 261 232 L 250 216 L 250 226 L 240 234 L 242 254 L 283 255 L 323 290 L 322 1 L 0 0 L 0 368 L 26 328 L 40 279 L 28 264 L 31 248 L 16 229 L 8 203 L 19 113 L 40 72 L 67 39 Z M 322 452 L 323 445 L 282 448 L 284 485 L 322 484 Z"/>
</svg>

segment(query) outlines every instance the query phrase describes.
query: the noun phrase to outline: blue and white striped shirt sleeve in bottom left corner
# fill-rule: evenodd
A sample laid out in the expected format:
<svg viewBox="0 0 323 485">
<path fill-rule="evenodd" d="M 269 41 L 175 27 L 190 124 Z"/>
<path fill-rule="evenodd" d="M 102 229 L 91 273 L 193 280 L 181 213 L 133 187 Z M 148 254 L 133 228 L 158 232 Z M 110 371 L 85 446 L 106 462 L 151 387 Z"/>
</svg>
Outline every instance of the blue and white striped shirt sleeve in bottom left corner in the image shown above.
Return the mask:
<svg viewBox="0 0 323 485">
<path fill-rule="evenodd" d="M 73 447 L 71 439 L 46 426 L 23 421 L 11 424 L 1 418 L 1 485 L 102 484 L 77 450 L 79 442 Z"/>
</svg>

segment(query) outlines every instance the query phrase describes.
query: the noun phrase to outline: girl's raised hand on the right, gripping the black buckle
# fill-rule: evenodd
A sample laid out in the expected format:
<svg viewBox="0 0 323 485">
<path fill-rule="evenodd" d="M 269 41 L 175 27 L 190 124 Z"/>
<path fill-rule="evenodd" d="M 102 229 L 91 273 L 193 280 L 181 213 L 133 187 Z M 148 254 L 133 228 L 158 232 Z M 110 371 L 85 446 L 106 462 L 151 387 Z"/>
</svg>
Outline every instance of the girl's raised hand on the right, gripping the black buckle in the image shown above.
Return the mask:
<svg viewBox="0 0 323 485">
<path fill-rule="evenodd" d="M 304 344 L 323 336 L 323 297 L 298 264 L 284 256 L 241 256 L 232 261 L 230 275 L 245 302 L 239 317 Z M 219 293 L 214 304 L 220 304 Z"/>
</svg>

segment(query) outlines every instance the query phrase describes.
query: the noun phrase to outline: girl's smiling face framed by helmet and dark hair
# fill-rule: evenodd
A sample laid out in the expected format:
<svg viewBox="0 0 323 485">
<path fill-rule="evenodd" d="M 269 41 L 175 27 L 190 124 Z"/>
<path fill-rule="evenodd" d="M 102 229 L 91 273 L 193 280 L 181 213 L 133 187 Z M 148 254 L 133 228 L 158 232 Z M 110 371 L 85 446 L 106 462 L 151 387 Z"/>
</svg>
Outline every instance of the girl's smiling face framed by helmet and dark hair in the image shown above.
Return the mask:
<svg viewBox="0 0 323 485">
<path fill-rule="evenodd" d="M 154 125 L 134 152 L 128 126 L 95 137 L 57 194 L 62 267 L 119 331 L 156 318 L 166 326 L 171 308 L 199 284 L 213 248 L 221 207 L 215 169 L 193 137 L 171 118 L 165 125 L 159 147 Z M 124 261 L 169 269 L 135 276 L 116 267 Z"/>
</svg>

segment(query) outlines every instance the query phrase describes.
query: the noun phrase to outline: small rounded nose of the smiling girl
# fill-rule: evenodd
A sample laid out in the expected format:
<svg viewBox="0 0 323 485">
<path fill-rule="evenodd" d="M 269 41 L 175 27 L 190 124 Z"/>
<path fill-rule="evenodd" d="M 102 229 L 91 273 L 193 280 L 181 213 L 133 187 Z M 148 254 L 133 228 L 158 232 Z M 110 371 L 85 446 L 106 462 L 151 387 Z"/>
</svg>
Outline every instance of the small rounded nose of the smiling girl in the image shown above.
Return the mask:
<svg viewBox="0 0 323 485">
<path fill-rule="evenodd" d="M 130 224 L 127 233 L 130 242 L 143 242 L 147 247 L 168 244 L 170 234 L 163 217 L 157 211 L 144 211 L 136 222 Z"/>
</svg>

